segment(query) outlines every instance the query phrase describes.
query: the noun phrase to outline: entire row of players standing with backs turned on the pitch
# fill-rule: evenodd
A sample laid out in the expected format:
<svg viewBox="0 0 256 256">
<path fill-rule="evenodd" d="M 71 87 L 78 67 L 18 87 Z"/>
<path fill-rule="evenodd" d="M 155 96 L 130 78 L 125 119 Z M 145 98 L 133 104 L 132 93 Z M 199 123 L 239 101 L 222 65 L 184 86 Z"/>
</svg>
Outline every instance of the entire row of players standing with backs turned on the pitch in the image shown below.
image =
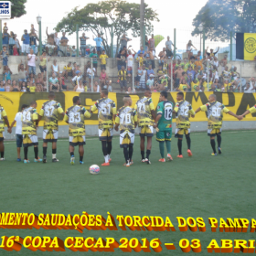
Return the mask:
<svg viewBox="0 0 256 256">
<path fill-rule="evenodd" d="M 20 150 L 24 147 L 24 163 L 27 164 L 28 148 L 34 147 L 34 162 L 47 163 L 48 143 L 52 144 L 52 162 L 59 162 L 57 158 L 57 141 L 58 141 L 58 117 L 62 115 L 64 121 L 69 124 L 69 154 L 70 164 L 75 164 L 75 146 L 79 146 L 80 165 L 84 164 L 84 144 L 85 138 L 85 118 L 90 118 L 92 112 L 98 111 L 99 120 L 99 139 L 101 141 L 102 153 L 104 156 L 103 166 L 110 165 L 112 153 L 112 136 L 113 129 L 120 131 L 120 147 L 123 148 L 125 159 L 124 166 L 133 165 L 133 143 L 135 136 L 135 128 L 140 130 L 140 149 L 141 162 L 151 164 L 150 154 L 152 148 L 152 139 L 154 136 L 154 128 L 156 131 L 156 141 L 159 143 L 161 158 L 159 162 L 165 162 L 166 158 L 172 161 L 171 155 L 171 139 L 172 139 L 172 121 L 173 114 L 176 113 L 176 133 L 178 158 L 183 158 L 182 140 L 186 136 L 187 155 L 192 156 L 191 139 L 190 139 L 190 122 L 189 117 L 195 117 L 197 112 L 208 112 L 208 136 L 213 150 L 211 155 L 221 154 L 221 126 L 223 113 L 229 113 L 239 120 L 248 113 L 256 112 L 256 105 L 251 107 L 242 115 L 236 115 L 230 112 L 222 103 L 216 101 L 216 95 L 211 94 L 208 97 L 208 103 L 193 110 L 191 104 L 184 100 L 184 93 L 178 92 L 176 95 L 176 104 L 167 100 L 167 92 L 162 91 L 159 97 L 159 103 L 154 106 L 151 99 L 152 92 L 144 91 L 144 97 L 137 101 L 132 108 L 132 98 L 130 96 L 123 97 L 123 107 L 116 110 L 115 102 L 108 98 L 108 91 L 101 91 L 101 99 L 96 101 L 90 108 L 86 110 L 81 106 L 80 97 L 73 97 L 73 106 L 64 112 L 60 103 L 55 101 L 55 93 L 48 93 L 48 101 L 46 101 L 40 112 L 37 112 L 37 101 L 32 101 L 30 105 L 22 105 L 21 112 L 16 113 L 13 123 L 9 123 L 7 113 L 0 106 L 0 161 L 5 160 L 4 131 L 7 126 L 8 133 L 12 133 L 12 128 L 16 124 L 16 147 L 17 161 L 21 161 Z M 38 157 L 38 139 L 37 127 L 40 120 L 44 118 L 43 128 L 43 158 Z M 216 150 L 215 137 L 217 137 L 218 149 Z M 145 145 L 146 141 L 146 145 Z M 218 153 L 217 153 L 218 152 Z"/>
</svg>

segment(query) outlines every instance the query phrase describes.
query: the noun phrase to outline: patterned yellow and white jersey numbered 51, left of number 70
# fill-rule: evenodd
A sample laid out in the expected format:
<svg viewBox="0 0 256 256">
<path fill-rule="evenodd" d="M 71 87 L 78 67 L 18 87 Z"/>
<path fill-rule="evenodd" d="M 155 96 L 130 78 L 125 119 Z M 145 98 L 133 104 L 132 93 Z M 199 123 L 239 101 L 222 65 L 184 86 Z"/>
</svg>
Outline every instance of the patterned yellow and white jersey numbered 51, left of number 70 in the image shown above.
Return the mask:
<svg viewBox="0 0 256 256">
<path fill-rule="evenodd" d="M 115 102 L 109 98 L 101 98 L 91 106 L 91 112 L 98 109 L 99 129 L 112 128 L 113 115 L 116 114 Z"/>
</svg>

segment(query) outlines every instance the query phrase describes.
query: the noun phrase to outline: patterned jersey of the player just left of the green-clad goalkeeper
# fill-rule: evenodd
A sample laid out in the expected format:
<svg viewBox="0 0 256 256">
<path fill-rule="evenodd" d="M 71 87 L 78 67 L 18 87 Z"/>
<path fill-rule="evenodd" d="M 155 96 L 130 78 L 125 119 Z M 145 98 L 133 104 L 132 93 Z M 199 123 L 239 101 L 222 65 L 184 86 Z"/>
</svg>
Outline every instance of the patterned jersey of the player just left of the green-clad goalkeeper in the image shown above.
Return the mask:
<svg viewBox="0 0 256 256">
<path fill-rule="evenodd" d="M 155 110 L 154 103 L 151 98 L 144 97 L 136 102 L 134 106 L 138 115 L 138 125 L 153 125 L 151 111 Z"/>
</svg>

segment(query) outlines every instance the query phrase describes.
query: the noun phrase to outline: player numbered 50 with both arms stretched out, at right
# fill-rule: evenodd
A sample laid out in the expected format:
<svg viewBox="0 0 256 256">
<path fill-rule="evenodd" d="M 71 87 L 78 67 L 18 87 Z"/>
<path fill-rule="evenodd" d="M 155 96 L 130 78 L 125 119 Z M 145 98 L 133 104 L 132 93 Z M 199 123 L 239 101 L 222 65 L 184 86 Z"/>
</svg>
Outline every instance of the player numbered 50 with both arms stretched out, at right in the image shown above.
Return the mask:
<svg viewBox="0 0 256 256">
<path fill-rule="evenodd" d="M 236 118 L 239 118 L 235 113 L 230 112 L 222 103 L 216 101 L 216 95 L 210 94 L 208 96 L 208 103 L 199 107 L 195 113 L 202 111 L 208 112 L 208 136 L 210 137 L 210 144 L 213 149 L 211 155 L 217 155 L 215 146 L 215 136 L 217 135 L 218 151 L 221 154 L 221 126 L 223 112 L 229 113 Z"/>
</svg>

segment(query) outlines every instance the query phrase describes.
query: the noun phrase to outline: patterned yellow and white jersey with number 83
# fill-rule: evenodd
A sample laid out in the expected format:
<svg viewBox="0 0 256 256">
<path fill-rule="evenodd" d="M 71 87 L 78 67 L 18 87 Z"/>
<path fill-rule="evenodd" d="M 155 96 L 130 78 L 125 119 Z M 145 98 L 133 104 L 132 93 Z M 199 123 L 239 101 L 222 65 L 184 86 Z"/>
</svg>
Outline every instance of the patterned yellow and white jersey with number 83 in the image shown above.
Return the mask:
<svg viewBox="0 0 256 256">
<path fill-rule="evenodd" d="M 70 107 L 64 116 L 64 121 L 69 122 L 69 136 L 84 136 L 84 118 L 90 118 L 91 113 L 83 106 L 75 105 Z"/>
</svg>

